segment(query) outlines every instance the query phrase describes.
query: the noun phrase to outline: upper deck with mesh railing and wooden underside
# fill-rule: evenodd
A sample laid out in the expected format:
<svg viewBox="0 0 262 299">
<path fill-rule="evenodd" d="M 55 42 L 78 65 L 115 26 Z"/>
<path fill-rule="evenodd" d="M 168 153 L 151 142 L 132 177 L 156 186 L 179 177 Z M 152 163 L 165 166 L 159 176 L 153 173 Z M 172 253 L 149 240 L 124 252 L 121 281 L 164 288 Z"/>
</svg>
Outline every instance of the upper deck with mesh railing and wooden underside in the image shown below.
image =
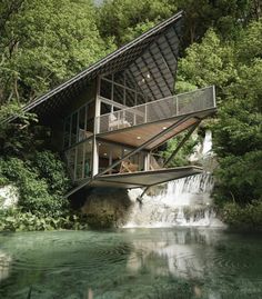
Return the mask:
<svg viewBox="0 0 262 299">
<path fill-rule="evenodd" d="M 102 114 L 97 118 L 95 133 L 108 141 L 140 147 L 178 122 L 173 130 L 145 147 L 151 150 L 215 110 L 214 87 L 208 87 Z"/>
</svg>

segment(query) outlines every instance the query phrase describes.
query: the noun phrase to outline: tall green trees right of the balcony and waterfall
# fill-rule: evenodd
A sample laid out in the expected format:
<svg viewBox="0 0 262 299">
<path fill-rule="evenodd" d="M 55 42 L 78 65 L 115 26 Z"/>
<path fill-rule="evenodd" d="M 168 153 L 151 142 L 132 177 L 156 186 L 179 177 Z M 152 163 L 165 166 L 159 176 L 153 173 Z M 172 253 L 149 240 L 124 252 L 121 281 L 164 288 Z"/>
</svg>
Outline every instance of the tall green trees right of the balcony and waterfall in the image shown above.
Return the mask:
<svg viewBox="0 0 262 299">
<path fill-rule="evenodd" d="M 216 203 L 228 212 L 224 220 L 259 223 L 262 193 L 262 21 L 239 29 L 230 41 L 209 30 L 181 59 L 182 83 L 216 86 L 219 111 L 210 123 L 219 167 Z M 233 206 L 226 202 L 233 201 Z M 259 208 L 260 207 L 260 208 Z M 255 219 L 251 219 L 254 213 Z M 240 220 L 236 220 L 236 218 Z M 261 219 L 261 218 L 260 218 Z"/>
</svg>

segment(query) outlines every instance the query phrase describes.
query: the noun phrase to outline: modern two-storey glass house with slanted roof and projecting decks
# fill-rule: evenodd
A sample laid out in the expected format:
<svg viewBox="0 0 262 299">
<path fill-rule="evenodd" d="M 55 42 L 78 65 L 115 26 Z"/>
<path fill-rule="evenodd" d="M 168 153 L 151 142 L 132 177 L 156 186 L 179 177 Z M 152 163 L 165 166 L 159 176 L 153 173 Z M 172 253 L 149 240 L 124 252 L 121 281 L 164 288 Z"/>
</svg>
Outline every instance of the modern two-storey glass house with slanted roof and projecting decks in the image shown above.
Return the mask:
<svg viewBox="0 0 262 299">
<path fill-rule="evenodd" d="M 175 94 L 182 13 L 23 108 L 52 128 L 74 188 L 137 188 L 201 172 L 164 168 L 158 148 L 215 112 L 214 87 Z M 173 155 L 173 156 L 174 156 Z M 172 156 L 172 157 L 173 157 Z"/>
</svg>

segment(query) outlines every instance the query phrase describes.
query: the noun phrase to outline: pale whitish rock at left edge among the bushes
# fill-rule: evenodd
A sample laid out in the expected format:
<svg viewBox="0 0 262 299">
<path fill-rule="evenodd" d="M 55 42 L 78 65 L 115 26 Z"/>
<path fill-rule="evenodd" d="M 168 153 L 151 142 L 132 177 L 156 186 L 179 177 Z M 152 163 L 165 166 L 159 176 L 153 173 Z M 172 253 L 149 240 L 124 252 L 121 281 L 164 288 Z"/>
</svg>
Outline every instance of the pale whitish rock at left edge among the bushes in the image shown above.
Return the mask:
<svg viewBox="0 0 262 299">
<path fill-rule="evenodd" d="M 0 209 L 16 207 L 19 200 L 19 190 L 13 185 L 0 187 Z"/>
</svg>

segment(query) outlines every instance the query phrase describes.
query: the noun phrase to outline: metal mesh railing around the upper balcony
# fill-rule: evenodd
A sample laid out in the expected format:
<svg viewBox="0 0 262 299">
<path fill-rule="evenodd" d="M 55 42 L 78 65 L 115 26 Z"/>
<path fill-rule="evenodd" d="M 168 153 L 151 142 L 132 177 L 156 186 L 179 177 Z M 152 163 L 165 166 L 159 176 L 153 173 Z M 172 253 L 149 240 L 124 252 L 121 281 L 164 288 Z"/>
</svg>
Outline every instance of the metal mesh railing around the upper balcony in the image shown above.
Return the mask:
<svg viewBox="0 0 262 299">
<path fill-rule="evenodd" d="M 215 108 L 213 86 L 102 114 L 97 118 L 95 132 L 105 133 L 212 108 Z"/>
</svg>

